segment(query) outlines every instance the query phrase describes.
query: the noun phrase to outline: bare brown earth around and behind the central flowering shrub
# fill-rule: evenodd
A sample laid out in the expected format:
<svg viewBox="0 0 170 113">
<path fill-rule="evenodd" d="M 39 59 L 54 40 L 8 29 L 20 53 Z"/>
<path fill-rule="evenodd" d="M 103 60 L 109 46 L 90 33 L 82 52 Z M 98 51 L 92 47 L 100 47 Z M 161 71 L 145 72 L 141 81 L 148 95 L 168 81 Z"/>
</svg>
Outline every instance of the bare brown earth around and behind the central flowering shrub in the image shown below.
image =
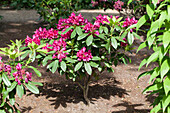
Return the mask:
<svg viewBox="0 0 170 113">
<path fill-rule="evenodd" d="M 100 12 L 83 10 L 82 14 L 85 18 L 92 18 Z M 118 15 L 115 11 L 101 13 Z M 0 15 L 4 16 L 0 20 L 0 47 L 9 44 L 10 40 L 31 36 L 35 29 L 45 26 L 37 21 L 39 16 L 33 10 L 0 10 Z M 137 48 L 140 42 L 141 40 L 137 40 L 134 47 Z M 103 72 L 100 79 L 90 85 L 89 106 L 85 104 L 82 90 L 76 84 L 66 80 L 64 76 L 46 72 L 43 67 L 38 68 L 42 77 L 33 77 L 34 81 L 44 84 L 39 87 L 40 94 L 27 92 L 26 96 L 22 99 L 17 97 L 16 101 L 20 104 L 22 113 L 148 113 L 154 97 L 147 97 L 142 91 L 148 85 L 149 76 L 140 80 L 137 77 L 153 67 L 151 65 L 138 71 L 141 60 L 150 54 L 151 51 L 147 49 L 138 54 L 133 50 L 132 54 L 128 53 L 132 58 L 131 64 L 114 67 L 114 73 Z"/>
</svg>

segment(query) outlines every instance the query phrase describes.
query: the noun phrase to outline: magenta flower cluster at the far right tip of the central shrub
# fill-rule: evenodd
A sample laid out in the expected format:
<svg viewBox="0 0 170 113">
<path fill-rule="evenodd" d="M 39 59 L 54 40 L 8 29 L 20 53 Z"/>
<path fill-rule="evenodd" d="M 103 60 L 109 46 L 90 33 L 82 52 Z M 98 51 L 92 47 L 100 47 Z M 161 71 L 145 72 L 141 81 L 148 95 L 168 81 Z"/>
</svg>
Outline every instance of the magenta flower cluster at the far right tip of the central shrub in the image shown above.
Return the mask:
<svg viewBox="0 0 170 113">
<path fill-rule="evenodd" d="M 125 22 L 123 22 L 122 27 L 129 27 L 129 26 L 136 24 L 136 23 L 138 23 L 138 21 L 135 19 L 135 17 L 133 17 L 131 19 L 129 17 L 127 17 L 125 19 Z M 130 29 L 130 31 L 133 32 L 133 29 Z"/>
</svg>

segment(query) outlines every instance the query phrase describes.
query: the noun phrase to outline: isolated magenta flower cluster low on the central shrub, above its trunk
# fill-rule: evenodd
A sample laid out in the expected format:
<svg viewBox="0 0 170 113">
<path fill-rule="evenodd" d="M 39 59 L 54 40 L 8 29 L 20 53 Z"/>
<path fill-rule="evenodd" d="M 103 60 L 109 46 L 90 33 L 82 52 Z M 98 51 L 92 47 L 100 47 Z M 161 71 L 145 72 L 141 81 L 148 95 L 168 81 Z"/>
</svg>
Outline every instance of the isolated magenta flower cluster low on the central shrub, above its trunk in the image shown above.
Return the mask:
<svg viewBox="0 0 170 113">
<path fill-rule="evenodd" d="M 86 52 L 86 48 L 83 47 L 80 51 L 77 52 L 77 57 L 78 57 L 78 61 L 89 61 L 93 58 L 91 50 L 88 50 L 88 52 Z"/>
</svg>

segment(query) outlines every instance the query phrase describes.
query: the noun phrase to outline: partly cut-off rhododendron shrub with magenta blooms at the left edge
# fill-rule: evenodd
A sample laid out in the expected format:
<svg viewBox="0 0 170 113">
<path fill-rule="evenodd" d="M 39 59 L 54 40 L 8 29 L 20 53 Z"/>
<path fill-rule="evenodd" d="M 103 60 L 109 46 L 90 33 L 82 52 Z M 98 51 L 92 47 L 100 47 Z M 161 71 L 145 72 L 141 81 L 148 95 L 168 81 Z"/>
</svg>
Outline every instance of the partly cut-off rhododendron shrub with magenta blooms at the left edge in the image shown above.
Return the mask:
<svg viewBox="0 0 170 113">
<path fill-rule="evenodd" d="M 21 41 L 16 40 L 16 43 L 12 41 L 9 47 L 0 48 L 0 54 L 9 57 L 8 61 L 0 57 L 0 113 L 20 113 L 19 104 L 15 102 L 16 95 L 22 98 L 27 89 L 34 94 L 39 93 L 35 85 L 42 84 L 33 82 L 33 74 L 29 72 L 31 68 L 38 76 L 41 76 L 36 68 L 29 66 L 29 63 L 35 59 L 33 58 L 35 52 L 38 52 L 36 48 L 38 46 L 35 45 L 35 43 L 29 44 L 31 48 L 28 49 L 22 45 Z M 39 47 L 39 50 L 42 51 L 42 48 Z M 27 59 L 25 57 L 28 54 L 30 57 Z"/>
</svg>

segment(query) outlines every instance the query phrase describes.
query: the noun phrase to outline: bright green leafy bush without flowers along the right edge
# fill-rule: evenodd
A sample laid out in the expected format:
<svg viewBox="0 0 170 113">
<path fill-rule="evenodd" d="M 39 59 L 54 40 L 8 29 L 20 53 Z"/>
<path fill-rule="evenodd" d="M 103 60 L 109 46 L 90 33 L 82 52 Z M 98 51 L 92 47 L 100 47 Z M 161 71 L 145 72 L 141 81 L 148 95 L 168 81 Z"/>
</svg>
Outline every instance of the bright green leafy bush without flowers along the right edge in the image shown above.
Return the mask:
<svg viewBox="0 0 170 113">
<path fill-rule="evenodd" d="M 143 92 L 150 91 L 150 95 L 158 95 L 151 104 L 151 113 L 170 113 L 170 1 L 158 2 L 160 1 L 152 0 L 146 5 L 147 14 L 137 24 L 137 29 L 143 24 L 150 26 L 147 39 L 139 46 L 138 51 L 145 47 L 154 51 L 141 62 L 139 69 L 145 64 L 147 67 L 151 62 L 157 66 L 138 78 L 150 75 L 150 85 Z"/>
</svg>

